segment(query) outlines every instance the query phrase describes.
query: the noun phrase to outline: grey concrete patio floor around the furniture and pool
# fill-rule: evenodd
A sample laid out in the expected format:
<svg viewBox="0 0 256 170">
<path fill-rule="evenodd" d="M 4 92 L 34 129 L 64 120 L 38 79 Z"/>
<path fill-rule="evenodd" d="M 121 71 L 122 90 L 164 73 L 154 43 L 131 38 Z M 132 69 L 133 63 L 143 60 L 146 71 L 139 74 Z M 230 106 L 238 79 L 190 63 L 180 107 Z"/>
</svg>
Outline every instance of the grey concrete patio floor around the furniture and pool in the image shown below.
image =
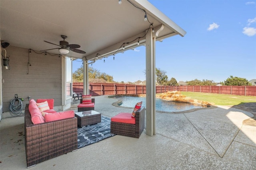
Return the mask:
<svg viewBox="0 0 256 170">
<path fill-rule="evenodd" d="M 116 99 L 95 97 L 95 110 L 107 117 L 132 108 L 112 106 Z M 76 108 L 76 104 L 73 105 Z M 156 135 L 139 139 L 116 135 L 32 169 L 162 170 L 256 169 L 256 126 L 243 124 L 248 111 L 219 106 L 189 113 L 156 113 Z M 26 167 L 24 117 L 0 121 L 0 169 Z"/>
</svg>

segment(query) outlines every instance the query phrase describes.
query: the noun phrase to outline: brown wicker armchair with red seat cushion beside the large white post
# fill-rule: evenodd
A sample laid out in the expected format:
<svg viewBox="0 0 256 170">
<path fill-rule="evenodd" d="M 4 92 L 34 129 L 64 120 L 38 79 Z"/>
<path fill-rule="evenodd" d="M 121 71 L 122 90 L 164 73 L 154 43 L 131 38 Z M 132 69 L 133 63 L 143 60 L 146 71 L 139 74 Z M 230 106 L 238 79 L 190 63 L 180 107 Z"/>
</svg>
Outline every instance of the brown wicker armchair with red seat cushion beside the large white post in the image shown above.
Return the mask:
<svg viewBox="0 0 256 170">
<path fill-rule="evenodd" d="M 119 113 L 112 117 L 110 121 L 110 133 L 128 137 L 139 138 L 144 127 L 145 107 L 138 109 L 135 117 L 132 117 L 132 113 Z"/>
</svg>

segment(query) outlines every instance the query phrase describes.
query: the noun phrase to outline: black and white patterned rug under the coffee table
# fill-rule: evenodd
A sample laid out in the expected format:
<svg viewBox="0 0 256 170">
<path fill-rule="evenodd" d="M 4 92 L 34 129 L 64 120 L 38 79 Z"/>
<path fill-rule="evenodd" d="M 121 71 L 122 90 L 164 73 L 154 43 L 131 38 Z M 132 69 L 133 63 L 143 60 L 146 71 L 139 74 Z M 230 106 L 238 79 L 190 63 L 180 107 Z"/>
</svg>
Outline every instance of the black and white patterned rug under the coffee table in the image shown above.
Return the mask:
<svg viewBox="0 0 256 170">
<path fill-rule="evenodd" d="M 110 118 L 101 116 L 101 123 L 78 127 L 78 149 L 113 136 L 115 134 L 110 133 Z"/>
</svg>

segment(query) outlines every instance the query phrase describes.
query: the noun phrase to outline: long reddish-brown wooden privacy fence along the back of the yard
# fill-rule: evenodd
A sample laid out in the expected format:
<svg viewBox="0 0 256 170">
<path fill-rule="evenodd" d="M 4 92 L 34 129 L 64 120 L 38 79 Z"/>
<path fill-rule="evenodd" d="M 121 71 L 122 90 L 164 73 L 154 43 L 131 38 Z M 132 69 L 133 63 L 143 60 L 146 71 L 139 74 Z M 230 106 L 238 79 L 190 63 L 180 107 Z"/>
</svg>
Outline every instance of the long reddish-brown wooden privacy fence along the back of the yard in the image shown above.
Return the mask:
<svg viewBox="0 0 256 170">
<path fill-rule="evenodd" d="M 89 83 L 92 96 L 117 94 L 146 94 L 146 85 L 118 83 Z M 204 92 L 238 96 L 256 96 L 256 86 L 156 86 L 156 93 L 168 91 Z M 83 93 L 83 83 L 73 83 L 73 92 Z"/>
</svg>

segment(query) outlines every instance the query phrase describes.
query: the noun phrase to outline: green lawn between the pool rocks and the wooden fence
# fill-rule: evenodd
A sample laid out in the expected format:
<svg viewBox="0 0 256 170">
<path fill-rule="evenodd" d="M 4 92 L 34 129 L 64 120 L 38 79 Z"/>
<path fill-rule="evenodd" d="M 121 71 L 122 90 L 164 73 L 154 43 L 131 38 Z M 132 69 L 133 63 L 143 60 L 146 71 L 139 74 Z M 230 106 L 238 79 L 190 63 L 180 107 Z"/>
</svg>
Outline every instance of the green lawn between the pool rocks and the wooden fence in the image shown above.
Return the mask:
<svg viewBox="0 0 256 170">
<path fill-rule="evenodd" d="M 256 102 L 256 96 L 235 96 L 228 94 L 213 94 L 200 92 L 181 92 L 192 99 L 211 102 L 216 105 L 238 105 L 241 103 Z"/>
</svg>

